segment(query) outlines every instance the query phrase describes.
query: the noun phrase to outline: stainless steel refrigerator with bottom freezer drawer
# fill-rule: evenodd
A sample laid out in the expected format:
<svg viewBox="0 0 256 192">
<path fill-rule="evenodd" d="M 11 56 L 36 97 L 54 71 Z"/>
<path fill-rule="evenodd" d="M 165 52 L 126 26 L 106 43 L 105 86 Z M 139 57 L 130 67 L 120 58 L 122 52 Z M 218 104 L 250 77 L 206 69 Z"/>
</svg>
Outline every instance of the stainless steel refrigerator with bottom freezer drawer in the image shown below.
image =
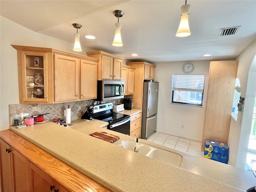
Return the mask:
<svg viewBox="0 0 256 192">
<path fill-rule="evenodd" d="M 141 138 L 147 139 L 156 131 L 158 82 L 144 82 Z"/>
</svg>

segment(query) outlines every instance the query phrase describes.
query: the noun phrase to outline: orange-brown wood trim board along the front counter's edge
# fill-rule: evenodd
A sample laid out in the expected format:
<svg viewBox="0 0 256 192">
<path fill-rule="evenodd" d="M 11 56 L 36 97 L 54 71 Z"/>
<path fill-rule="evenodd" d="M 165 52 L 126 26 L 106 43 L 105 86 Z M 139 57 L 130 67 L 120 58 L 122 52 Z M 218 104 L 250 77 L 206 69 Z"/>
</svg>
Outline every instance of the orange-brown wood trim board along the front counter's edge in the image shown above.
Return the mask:
<svg viewBox="0 0 256 192">
<path fill-rule="evenodd" d="M 90 177 L 38 148 L 12 130 L 0 132 L 0 138 L 27 158 L 32 164 L 62 185 L 69 192 L 101 191 L 112 192 Z"/>
</svg>

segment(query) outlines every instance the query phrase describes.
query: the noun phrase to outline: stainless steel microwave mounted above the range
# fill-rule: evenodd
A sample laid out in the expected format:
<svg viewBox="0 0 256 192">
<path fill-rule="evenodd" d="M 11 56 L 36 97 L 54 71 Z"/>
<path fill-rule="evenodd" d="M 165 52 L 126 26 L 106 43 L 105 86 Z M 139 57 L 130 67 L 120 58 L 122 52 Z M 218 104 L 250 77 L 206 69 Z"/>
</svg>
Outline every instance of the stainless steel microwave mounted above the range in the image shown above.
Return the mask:
<svg viewBox="0 0 256 192">
<path fill-rule="evenodd" d="M 97 100 L 107 101 L 124 98 L 123 81 L 98 81 Z"/>
</svg>

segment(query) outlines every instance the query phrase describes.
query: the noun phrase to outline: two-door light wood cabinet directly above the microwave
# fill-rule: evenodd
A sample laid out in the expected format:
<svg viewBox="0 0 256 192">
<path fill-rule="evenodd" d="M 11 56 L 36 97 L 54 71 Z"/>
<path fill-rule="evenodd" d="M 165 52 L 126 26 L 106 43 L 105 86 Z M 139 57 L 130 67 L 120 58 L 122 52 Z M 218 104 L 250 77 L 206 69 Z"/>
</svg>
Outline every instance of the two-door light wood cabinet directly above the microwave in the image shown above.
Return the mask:
<svg viewBox="0 0 256 192">
<path fill-rule="evenodd" d="M 124 58 L 104 51 L 86 52 L 89 57 L 98 59 L 98 80 L 122 80 Z"/>
</svg>

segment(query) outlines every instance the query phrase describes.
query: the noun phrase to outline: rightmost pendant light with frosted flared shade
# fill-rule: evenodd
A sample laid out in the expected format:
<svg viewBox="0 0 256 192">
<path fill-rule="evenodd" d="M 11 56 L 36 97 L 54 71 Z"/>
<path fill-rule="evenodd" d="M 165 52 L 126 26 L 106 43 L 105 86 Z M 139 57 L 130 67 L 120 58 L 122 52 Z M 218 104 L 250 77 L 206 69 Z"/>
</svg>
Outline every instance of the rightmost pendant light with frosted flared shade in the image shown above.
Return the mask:
<svg viewBox="0 0 256 192">
<path fill-rule="evenodd" d="M 180 26 L 176 33 L 177 37 L 186 37 L 191 35 L 189 25 L 188 25 L 189 10 L 190 10 L 190 4 L 187 4 L 187 0 L 186 0 L 185 4 L 181 6 L 181 19 L 180 19 Z"/>
</svg>

